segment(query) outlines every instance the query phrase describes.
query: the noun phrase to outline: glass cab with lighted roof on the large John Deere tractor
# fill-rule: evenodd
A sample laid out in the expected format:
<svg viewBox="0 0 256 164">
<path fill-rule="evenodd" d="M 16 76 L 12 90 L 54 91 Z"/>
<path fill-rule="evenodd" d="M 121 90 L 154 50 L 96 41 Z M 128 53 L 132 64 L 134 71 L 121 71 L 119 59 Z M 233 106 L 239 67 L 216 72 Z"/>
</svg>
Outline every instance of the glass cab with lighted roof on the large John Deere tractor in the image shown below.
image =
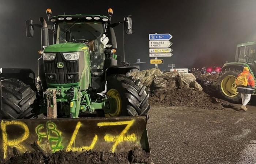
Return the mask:
<svg viewBox="0 0 256 164">
<path fill-rule="evenodd" d="M 92 70 L 103 69 L 106 51 L 117 49 L 114 31 L 113 37 L 108 32 L 110 19 L 106 16 L 62 15 L 51 17 L 50 21 L 54 23 L 55 44 L 84 43 L 89 47 Z"/>
</svg>

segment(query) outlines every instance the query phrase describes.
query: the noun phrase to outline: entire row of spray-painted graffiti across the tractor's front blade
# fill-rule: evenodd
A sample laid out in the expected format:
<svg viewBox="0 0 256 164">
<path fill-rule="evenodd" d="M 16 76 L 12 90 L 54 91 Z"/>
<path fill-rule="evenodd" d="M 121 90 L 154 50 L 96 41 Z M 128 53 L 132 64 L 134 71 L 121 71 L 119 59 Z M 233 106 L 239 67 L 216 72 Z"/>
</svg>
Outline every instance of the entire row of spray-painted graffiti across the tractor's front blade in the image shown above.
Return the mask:
<svg viewBox="0 0 256 164">
<path fill-rule="evenodd" d="M 104 132 L 103 136 L 102 136 L 102 133 L 99 133 L 101 136 L 100 139 L 97 134 L 94 134 L 94 137 L 90 135 L 91 138 L 90 137 L 86 138 L 86 141 L 89 140 L 89 143 L 86 146 L 80 145 L 80 143 L 79 143 L 79 145 L 75 145 L 76 144 L 75 140 L 76 140 L 76 137 L 78 136 L 79 130 L 81 128 L 82 128 L 82 130 L 88 128 L 88 127 L 84 128 L 84 125 L 82 124 L 81 121 L 76 122 L 76 126 L 75 126 L 75 129 L 74 129 L 72 135 L 69 133 L 70 131 L 67 131 L 67 133 L 65 133 L 65 131 L 62 130 L 62 132 L 65 134 L 64 136 L 62 136 L 62 132 L 57 128 L 57 125 L 56 125 L 57 123 L 55 124 L 52 121 L 47 121 L 44 124 L 37 125 L 36 128 L 34 129 L 35 130 L 34 132 L 38 136 L 38 140 L 37 140 L 38 145 L 42 149 L 49 149 L 49 151 L 52 151 L 53 153 L 64 149 L 64 147 L 65 147 L 65 151 L 78 151 L 78 152 L 83 151 L 83 150 L 94 149 L 95 145 L 97 145 L 97 141 L 103 140 L 103 139 L 105 140 L 105 142 L 113 142 L 113 145 L 110 143 L 110 146 L 112 146 L 111 151 L 115 152 L 118 144 L 121 144 L 121 142 L 136 142 L 137 141 L 138 137 L 135 135 L 135 133 L 127 134 L 128 130 L 131 128 L 131 126 L 133 125 L 134 122 L 135 122 L 135 120 L 98 122 L 97 124 L 94 124 L 94 126 L 96 125 L 99 128 L 101 128 L 102 126 L 118 126 L 118 125 L 120 125 L 120 126 L 126 125 L 126 126 L 118 135 L 115 135 L 116 132 L 114 134 Z M 23 130 L 21 130 L 21 132 L 19 132 L 22 134 L 18 134 L 18 135 L 12 134 L 12 133 L 9 134 L 8 130 L 7 130 L 7 126 L 9 126 L 9 125 L 14 125 L 14 126 L 17 126 L 19 129 L 23 129 Z M 1 121 L 0 126 L 1 126 L 2 136 L 3 136 L 2 150 L 3 150 L 3 158 L 4 159 L 7 157 L 7 148 L 8 147 L 9 148 L 16 147 L 19 151 L 25 152 L 26 150 L 29 149 L 29 147 L 27 147 L 26 145 L 28 143 L 34 142 L 34 141 L 29 141 L 29 137 L 30 137 L 29 135 L 30 135 L 30 133 L 33 132 L 33 130 L 29 131 L 28 125 L 26 125 L 25 122 L 17 121 L 17 120 Z M 8 128 L 12 128 L 12 127 L 8 127 Z M 86 131 L 84 131 L 84 130 L 81 131 L 81 134 L 86 134 L 84 132 L 86 132 Z M 106 132 L 108 132 L 108 130 Z M 13 139 L 13 137 L 10 137 L 12 135 L 13 136 L 17 135 L 18 137 Z M 8 138 L 8 136 L 9 136 L 9 138 Z M 34 135 L 31 134 L 32 138 L 33 138 L 33 136 Z M 64 140 L 64 143 L 63 143 L 63 140 Z M 81 141 L 81 138 L 79 138 L 79 140 Z M 23 142 L 23 141 L 25 141 L 25 142 Z M 98 146 L 99 145 L 100 144 L 98 144 Z M 98 149 L 98 147 L 96 149 Z"/>
</svg>

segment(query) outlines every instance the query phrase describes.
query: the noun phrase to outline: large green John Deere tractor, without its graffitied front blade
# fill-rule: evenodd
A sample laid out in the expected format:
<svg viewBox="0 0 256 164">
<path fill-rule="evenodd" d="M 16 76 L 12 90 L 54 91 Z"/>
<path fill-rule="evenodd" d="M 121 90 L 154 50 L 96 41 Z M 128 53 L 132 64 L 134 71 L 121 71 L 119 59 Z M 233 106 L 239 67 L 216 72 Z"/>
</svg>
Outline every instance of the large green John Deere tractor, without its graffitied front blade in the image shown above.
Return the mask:
<svg viewBox="0 0 256 164">
<path fill-rule="evenodd" d="M 52 118 L 78 118 L 90 113 L 145 116 L 150 109 L 145 86 L 125 75 L 133 67 L 117 66 L 113 27 L 120 22 L 111 23 L 111 11 L 110 18 L 81 14 L 50 17 L 50 11 L 47 14 L 52 26 L 42 17 L 41 25 L 26 21 L 27 37 L 33 37 L 34 27 L 41 27 L 43 50 L 39 51 L 37 90 L 33 83 L 23 81 L 29 75 L 20 73 L 26 77 L 23 79 L 2 69 L 1 77 L 8 76 L 1 81 L 3 118 L 30 118 L 34 113 Z M 127 34 L 131 34 L 131 18 L 125 17 L 123 23 Z M 49 29 L 54 31 L 52 45 L 48 45 Z"/>
</svg>

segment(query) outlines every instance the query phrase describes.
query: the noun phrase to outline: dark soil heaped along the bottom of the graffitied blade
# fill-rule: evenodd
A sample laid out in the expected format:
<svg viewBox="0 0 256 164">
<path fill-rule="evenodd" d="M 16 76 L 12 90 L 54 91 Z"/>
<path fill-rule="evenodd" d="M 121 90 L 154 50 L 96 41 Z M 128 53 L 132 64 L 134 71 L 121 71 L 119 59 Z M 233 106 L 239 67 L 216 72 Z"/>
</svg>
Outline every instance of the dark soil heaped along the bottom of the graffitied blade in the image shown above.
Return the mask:
<svg viewBox="0 0 256 164">
<path fill-rule="evenodd" d="M 23 155 L 16 154 L 14 157 L 1 164 L 108 164 L 108 163 L 151 163 L 150 153 L 139 148 L 129 152 L 93 152 L 84 151 L 64 152 L 45 154 L 42 151 L 26 152 Z"/>
</svg>

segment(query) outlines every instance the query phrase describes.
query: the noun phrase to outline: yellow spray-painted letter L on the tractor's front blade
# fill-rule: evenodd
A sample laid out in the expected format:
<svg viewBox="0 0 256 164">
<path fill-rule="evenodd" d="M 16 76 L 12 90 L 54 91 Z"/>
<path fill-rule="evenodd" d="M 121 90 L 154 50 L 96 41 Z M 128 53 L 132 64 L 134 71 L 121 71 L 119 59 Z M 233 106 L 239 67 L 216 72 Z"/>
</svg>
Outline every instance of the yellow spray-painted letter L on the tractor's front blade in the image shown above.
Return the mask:
<svg viewBox="0 0 256 164">
<path fill-rule="evenodd" d="M 74 130 L 74 133 L 71 137 L 71 140 L 70 142 L 68 143 L 68 146 L 67 146 L 67 149 L 66 151 L 82 151 L 82 150 L 90 150 L 90 149 L 93 149 L 94 148 L 94 145 L 96 144 L 97 140 L 98 140 L 98 136 L 95 134 L 94 138 L 93 138 L 93 141 L 91 142 L 91 145 L 90 146 L 82 146 L 82 147 L 72 147 L 73 143 L 75 144 L 75 139 L 76 139 L 76 135 L 78 134 L 78 130 L 81 126 L 81 122 L 78 121 L 78 123 L 76 124 L 76 128 Z M 74 145 L 75 146 L 75 145 Z"/>
</svg>

